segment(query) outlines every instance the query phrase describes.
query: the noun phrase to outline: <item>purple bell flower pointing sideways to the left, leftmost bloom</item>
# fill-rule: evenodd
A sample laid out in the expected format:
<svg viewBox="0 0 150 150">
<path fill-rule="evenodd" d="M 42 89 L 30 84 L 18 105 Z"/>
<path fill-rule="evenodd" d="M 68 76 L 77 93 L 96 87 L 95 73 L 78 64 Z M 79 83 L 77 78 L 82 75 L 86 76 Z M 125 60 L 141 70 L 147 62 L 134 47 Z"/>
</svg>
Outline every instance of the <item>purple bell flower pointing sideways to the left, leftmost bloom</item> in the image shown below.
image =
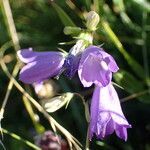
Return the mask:
<svg viewBox="0 0 150 150">
<path fill-rule="evenodd" d="M 39 83 L 57 76 L 63 67 L 65 55 L 62 52 L 34 52 L 32 48 L 18 51 L 19 59 L 26 63 L 19 79 L 27 84 Z"/>
</svg>

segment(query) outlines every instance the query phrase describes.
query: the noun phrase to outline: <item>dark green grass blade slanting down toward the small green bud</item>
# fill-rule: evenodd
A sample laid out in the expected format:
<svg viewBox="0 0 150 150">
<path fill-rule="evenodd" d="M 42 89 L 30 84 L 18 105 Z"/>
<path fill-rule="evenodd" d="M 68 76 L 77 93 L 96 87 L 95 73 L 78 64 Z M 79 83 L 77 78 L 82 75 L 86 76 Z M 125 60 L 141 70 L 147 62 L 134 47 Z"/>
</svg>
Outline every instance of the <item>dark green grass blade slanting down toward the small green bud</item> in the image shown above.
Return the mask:
<svg viewBox="0 0 150 150">
<path fill-rule="evenodd" d="M 71 20 L 71 18 L 67 15 L 67 13 L 61 7 L 59 7 L 56 3 L 52 3 L 52 6 L 58 13 L 58 16 L 60 20 L 62 21 L 62 23 L 64 24 L 64 26 L 72 26 L 72 27 L 76 26 L 74 22 Z"/>
</svg>

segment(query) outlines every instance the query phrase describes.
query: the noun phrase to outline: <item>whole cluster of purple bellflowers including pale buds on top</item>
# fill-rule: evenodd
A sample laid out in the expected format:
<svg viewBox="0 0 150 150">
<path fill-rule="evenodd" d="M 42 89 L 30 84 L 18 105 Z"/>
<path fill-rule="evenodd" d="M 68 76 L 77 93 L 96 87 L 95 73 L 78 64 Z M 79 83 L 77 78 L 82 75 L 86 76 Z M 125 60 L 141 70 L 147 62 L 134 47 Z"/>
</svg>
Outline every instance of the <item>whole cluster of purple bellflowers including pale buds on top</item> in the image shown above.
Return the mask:
<svg viewBox="0 0 150 150">
<path fill-rule="evenodd" d="M 38 91 L 44 80 L 60 76 L 61 73 L 72 78 L 78 72 L 84 87 L 95 86 L 90 107 L 89 139 L 94 135 L 103 139 L 114 131 L 127 140 L 126 120 L 112 81 L 112 74 L 119 70 L 114 58 L 101 47 L 92 45 L 92 32 L 96 30 L 99 16 L 90 12 L 86 18 L 88 31 L 81 32 L 76 44 L 69 53 L 34 52 L 31 48 L 18 52 L 19 59 L 26 65 L 21 69 L 19 79 L 27 84 L 36 85 Z M 66 28 L 72 34 L 74 28 Z M 81 30 L 80 30 L 81 31 Z"/>
</svg>

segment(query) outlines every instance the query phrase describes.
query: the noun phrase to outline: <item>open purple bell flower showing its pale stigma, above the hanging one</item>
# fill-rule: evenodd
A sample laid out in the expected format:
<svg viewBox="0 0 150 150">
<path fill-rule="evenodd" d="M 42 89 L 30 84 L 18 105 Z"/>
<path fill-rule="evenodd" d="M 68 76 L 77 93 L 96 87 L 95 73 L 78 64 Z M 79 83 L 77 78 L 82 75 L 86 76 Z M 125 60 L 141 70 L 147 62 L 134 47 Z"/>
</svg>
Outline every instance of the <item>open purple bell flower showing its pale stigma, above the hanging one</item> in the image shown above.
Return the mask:
<svg viewBox="0 0 150 150">
<path fill-rule="evenodd" d="M 111 55 L 100 47 L 89 46 L 82 53 L 78 75 L 84 87 L 90 87 L 93 83 L 107 86 L 112 79 L 112 72 L 118 69 Z"/>
</svg>

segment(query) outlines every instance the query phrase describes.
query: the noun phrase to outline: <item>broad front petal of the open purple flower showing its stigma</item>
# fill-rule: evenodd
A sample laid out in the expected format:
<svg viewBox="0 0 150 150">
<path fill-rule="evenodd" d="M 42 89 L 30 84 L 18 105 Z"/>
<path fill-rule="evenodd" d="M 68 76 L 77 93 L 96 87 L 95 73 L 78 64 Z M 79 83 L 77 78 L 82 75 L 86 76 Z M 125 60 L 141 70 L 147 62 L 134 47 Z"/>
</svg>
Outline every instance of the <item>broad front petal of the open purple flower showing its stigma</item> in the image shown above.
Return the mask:
<svg viewBox="0 0 150 150">
<path fill-rule="evenodd" d="M 95 54 L 89 54 L 84 62 L 80 63 L 78 75 L 84 87 L 89 87 L 92 83 L 99 86 L 109 84 L 111 72 L 104 67 L 104 63 Z"/>
</svg>

